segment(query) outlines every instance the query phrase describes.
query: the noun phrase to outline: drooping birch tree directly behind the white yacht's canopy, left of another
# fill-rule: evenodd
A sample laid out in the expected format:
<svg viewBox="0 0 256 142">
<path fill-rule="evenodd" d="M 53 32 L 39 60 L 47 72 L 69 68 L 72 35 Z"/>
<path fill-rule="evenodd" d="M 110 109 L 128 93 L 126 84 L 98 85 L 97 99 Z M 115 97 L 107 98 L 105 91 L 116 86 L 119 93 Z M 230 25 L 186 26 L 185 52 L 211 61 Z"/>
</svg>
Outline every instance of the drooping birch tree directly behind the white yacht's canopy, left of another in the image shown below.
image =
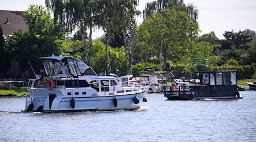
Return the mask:
<svg viewBox="0 0 256 142">
<path fill-rule="evenodd" d="M 98 20 L 100 18 L 99 12 L 102 7 L 98 0 L 89 1 L 59 1 L 46 0 L 46 6 L 54 12 L 55 25 L 59 26 L 60 31 L 65 33 L 72 32 L 77 28 L 81 31 L 82 41 L 84 43 L 84 61 L 86 64 L 92 64 L 92 30 L 93 27 L 99 26 Z M 102 14 L 102 13 L 101 13 Z M 89 59 L 88 59 L 88 45 L 86 44 L 87 33 L 89 30 Z M 89 61 L 88 61 L 89 60 Z"/>
</svg>

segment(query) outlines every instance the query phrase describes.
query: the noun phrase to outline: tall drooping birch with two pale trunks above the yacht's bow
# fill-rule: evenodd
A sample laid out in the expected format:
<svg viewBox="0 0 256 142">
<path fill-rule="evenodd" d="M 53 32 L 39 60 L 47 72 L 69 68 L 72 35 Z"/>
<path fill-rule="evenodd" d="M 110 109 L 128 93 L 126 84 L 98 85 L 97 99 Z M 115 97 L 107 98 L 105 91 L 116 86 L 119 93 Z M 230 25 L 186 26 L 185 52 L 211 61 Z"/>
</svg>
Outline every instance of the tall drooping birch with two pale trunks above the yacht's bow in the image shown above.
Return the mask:
<svg viewBox="0 0 256 142">
<path fill-rule="evenodd" d="M 101 27 L 106 37 L 106 73 L 109 74 L 109 43 L 113 40 L 114 33 L 122 33 L 126 57 L 129 59 L 129 73 L 131 73 L 131 45 L 134 38 L 134 16 L 137 14 L 137 0 L 107 0 L 101 1 Z M 129 36 L 128 36 L 129 35 Z"/>
</svg>

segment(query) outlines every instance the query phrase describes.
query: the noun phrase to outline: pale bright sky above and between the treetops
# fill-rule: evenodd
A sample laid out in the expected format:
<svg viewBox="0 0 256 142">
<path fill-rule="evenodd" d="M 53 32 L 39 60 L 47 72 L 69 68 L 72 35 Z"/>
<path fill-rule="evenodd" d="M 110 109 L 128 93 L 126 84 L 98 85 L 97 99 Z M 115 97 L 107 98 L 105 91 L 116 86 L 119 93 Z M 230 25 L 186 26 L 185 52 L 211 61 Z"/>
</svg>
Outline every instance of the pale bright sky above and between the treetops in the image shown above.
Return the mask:
<svg viewBox="0 0 256 142">
<path fill-rule="evenodd" d="M 138 10 L 142 11 L 147 2 L 154 0 L 139 0 Z M 34 3 L 43 5 L 45 0 L 0 0 L 0 10 L 24 11 L 28 5 Z M 225 31 L 238 32 L 245 29 L 256 31 L 256 1 L 255 0 L 184 0 L 184 3 L 193 3 L 199 10 L 199 35 L 214 31 L 219 39 Z M 137 22 L 142 23 L 143 16 Z M 93 37 L 101 37 L 101 30 L 94 30 Z"/>
</svg>

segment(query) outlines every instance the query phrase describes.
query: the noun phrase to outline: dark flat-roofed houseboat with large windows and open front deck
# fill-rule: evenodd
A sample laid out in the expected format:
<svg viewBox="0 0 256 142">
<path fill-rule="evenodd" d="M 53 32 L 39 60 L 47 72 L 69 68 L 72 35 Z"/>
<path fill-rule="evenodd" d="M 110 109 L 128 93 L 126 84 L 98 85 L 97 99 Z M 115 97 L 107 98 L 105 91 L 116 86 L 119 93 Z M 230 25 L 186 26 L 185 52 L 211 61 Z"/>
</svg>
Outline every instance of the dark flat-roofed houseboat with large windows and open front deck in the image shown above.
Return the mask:
<svg viewBox="0 0 256 142">
<path fill-rule="evenodd" d="M 171 100 L 242 98 L 237 89 L 235 70 L 195 72 L 194 76 L 195 80 L 200 80 L 198 84 L 181 85 L 177 91 L 172 90 L 171 86 L 166 86 L 164 97 Z"/>
</svg>

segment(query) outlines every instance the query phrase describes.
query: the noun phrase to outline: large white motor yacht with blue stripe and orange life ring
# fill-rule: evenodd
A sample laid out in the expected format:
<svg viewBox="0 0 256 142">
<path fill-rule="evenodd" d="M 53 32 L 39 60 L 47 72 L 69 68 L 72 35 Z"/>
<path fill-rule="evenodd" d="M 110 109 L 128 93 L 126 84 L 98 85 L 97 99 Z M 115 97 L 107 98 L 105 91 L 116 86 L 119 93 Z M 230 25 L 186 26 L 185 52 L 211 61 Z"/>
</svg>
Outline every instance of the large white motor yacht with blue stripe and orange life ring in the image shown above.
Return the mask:
<svg viewBox="0 0 256 142">
<path fill-rule="evenodd" d="M 90 66 L 75 57 L 41 57 L 39 60 L 43 63 L 40 78 L 36 74 L 39 64 L 30 64 L 36 78 L 28 82 L 30 97 L 26 97 L 25 111 L 135 110 L 150 85 L 147 82 L 147 85 L 126 86 L 115 77 L 97 76 Z"/>
</svg>

